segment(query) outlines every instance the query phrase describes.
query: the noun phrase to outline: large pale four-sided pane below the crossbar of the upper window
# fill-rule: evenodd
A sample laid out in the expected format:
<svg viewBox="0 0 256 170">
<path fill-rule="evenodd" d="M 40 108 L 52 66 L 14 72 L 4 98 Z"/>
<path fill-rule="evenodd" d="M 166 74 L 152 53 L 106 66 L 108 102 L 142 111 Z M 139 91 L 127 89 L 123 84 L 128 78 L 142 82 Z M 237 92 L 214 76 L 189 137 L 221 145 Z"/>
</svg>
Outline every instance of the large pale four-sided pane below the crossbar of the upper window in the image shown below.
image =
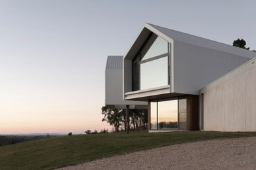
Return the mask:
<svg viewBox="0 0 256 170">
<path fill-rule="evenodd" d="M 168 57 L 140 64 L 140 90 L 168 85 Z"/>
</svg>

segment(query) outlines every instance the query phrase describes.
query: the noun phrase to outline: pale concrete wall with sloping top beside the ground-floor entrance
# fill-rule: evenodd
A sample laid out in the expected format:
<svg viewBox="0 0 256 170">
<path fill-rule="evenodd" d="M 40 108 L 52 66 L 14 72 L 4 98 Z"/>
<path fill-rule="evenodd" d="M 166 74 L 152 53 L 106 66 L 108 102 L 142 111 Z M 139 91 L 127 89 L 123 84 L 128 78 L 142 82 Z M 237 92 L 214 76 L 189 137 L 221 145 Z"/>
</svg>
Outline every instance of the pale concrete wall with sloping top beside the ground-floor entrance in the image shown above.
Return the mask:
<svg viewBox="0 0 256 170">
<path fill-rule="evenodd" d="M 205 86 L 202 93 L 203 130 L 256 131 L 256 58 Z"/>
</svg>

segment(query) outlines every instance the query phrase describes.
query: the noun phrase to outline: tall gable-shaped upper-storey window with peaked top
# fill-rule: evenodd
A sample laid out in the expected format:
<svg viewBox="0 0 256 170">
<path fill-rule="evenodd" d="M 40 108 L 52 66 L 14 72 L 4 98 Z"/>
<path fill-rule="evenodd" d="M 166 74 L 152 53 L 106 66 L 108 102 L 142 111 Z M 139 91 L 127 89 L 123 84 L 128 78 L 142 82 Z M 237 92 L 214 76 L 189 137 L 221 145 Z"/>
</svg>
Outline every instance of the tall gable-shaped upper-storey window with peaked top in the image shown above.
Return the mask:
<svg viewBox="0 0 256 170">
<path fill-rule="evenodd" d="M 133 91 L 169 84 L 169 43 L 151 34 L 133 59 Z"/>
</svg>

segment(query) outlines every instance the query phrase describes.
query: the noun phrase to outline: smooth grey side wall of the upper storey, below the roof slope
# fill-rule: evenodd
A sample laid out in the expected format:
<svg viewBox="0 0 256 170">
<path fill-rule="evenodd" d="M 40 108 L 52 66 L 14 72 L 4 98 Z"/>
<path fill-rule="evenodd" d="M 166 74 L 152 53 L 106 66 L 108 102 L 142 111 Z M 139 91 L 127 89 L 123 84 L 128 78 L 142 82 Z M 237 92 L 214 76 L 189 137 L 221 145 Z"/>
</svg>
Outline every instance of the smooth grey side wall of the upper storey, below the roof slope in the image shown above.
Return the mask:
<svg viewBox="0 0 256 170">
<path fill-rule="evenodd" d="M 175 41 L 173 92 L 198 95 L 201 88 L 249 59 Z"/>
</svg>

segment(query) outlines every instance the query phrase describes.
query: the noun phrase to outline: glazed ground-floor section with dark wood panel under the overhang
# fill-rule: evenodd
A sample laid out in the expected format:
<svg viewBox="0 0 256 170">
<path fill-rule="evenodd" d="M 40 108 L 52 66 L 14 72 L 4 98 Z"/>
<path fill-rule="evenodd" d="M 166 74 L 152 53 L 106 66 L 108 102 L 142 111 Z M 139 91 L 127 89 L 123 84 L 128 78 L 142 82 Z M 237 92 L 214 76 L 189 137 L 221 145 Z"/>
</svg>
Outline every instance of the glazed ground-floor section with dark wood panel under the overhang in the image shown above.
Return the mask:
<svg viewBox="0 0 256 170">
<path fill-rule="evenodd" d="M 148 130 L 198 130 L 198 95 L 148 101 Z"/>
</svg>

